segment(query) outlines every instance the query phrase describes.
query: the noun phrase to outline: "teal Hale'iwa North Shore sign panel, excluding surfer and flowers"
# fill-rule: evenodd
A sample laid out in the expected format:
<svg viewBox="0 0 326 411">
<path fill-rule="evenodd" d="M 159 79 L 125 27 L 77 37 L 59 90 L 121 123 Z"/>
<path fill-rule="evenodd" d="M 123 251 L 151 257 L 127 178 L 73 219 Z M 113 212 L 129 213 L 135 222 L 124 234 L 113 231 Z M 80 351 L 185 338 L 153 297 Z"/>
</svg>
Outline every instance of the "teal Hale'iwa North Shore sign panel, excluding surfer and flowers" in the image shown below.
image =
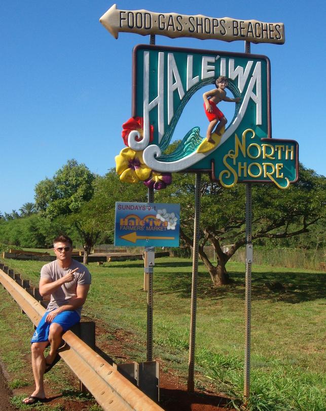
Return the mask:
<svg viewBox="0 0 326 411">
<path fill-rule="evenodd" d="M 273 182 L 287 188 L 298 179 L 298 143 L 272 139 L 270 61 L 266 56 L 139 45 L 133 52 L 133 117 L 143 119 L 144 163 L 158 172 L 209 172 L 225 187 L 238 182 Z M 208 143 L 194 126 L 169 154 L 175 126 L 200 88 L 225 76 L 237 98 L 235 113 L 221 136 Z M 230 95 L 230 93 L 228 93 Z M 230 103 L 231 104 L 231 103 Z M 199 115 L 202 115 L 199 114 Z M 207 123 L 208 125 L 208 123 Z M 153 138 L 149 133 L 154 129 Z M 204 135 L 204 136 L 203 136 Z M 213 136 L 213 134 L 212 134 Z M 175 136 L 174 136 L 175 137 Z"/>
</svg>

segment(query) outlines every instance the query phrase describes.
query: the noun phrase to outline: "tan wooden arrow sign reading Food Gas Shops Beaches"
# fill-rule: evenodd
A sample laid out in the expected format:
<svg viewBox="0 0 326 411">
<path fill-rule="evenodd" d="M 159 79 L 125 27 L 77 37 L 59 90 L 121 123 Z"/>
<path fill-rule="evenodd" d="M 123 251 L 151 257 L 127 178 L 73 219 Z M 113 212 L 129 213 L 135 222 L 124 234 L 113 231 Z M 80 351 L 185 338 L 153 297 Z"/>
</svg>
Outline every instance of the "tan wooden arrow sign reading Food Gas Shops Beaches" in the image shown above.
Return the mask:
<svg viewBox="0 0 326 411">
<path fill-rule="evenodd" d="M 214 18 L 203 15 L 155 13 L 147 10 L 119 10 L 113 5 L 99 20 L 115 39 L 119 32 L 161 35 L 170 38 L 194 37 L 201 40 L 232 42 L 246 40 L 252 43 L 285 42 L 283 23 L 265 23 L 257 20 L 237 20 L 230 17 Z"/>
</svg>

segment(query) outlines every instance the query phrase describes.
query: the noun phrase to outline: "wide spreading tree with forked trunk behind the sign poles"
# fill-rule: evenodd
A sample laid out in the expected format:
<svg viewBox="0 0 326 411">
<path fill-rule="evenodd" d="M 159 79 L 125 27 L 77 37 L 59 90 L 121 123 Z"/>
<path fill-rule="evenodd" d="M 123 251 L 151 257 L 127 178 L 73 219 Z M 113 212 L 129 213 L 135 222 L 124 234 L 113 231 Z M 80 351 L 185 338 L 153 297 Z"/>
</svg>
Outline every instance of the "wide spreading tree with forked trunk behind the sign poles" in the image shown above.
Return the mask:
<svg viewBox="0 0 326 411">
<path fill-rule="evenodd" d="M 194 176 L 173 176 L 169 188 L 156 194 L 159 202 L 180 202 L 180 237 L 193 246 Z M 306 233 L 309 227 L 324 216 L 326 180 L 300 166 L 300 179 L 288 190 L 271 184 L 252 186 L 252 239 L 285 238 Z M 199 255 L 211 277 L 213 286 L 230 282 L 226 264 L 234 253 L 246 243 L 245 238 L 245 186 L 238 184 L 225 189 L 203 176 L 201 185 L 201 218 Z M 206 253 L 205 245 L 212 245 L 218 259 L 214 265 Z M 223 246 L 228 245 L 228 250 Z"/>
</svg>

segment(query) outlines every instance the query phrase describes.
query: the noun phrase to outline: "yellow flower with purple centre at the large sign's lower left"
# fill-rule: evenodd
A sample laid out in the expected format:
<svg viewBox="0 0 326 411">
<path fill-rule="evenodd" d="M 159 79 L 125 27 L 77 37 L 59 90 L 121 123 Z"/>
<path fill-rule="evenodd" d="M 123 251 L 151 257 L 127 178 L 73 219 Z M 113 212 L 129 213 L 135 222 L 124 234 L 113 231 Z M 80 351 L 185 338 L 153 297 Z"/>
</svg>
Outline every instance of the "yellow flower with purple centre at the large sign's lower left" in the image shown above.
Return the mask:
<svg viewBox="0 0 326 411">
<path fill-rule="evenodd" d="M 142 151 L 126 147 L 116 156 L 116 171 L 125 183 L 138 183 L 150 177 L 152 169 L 142 161 Z"/>
</svg>

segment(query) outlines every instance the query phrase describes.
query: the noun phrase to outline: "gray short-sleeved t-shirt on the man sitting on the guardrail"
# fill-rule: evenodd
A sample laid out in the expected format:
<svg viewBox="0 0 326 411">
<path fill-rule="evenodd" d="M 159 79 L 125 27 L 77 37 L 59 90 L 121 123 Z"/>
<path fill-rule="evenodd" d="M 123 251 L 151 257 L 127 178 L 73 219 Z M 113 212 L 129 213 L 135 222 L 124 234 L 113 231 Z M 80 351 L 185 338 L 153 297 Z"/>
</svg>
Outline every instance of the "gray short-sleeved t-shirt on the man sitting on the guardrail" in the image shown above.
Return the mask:
<svg viewBox="0 0 326 411">
<path fill-rule="evenodd" d="M 53 291 L 47 311 L 68 304 L 71 297 L 76 297 L 78 285 L 91 284 L 91 275 L 85 265 L 76 260 L 71 260 L 68 268 L 61 268 L 57 260 L 51 261 L 41 268 L 41 278 L 49 279 L 51 282 L 59 280 L 64 277 L 68 271 L 74 270 L 75 268 L 78 268 L 78 271 L 75 272 L 75 279 L 70 281 L 70 283 L 62 284 L 61 287 Z M 81 306 L 75 310 L 79 316 L 81 315 L 82 308 Z"/>
</svg>

